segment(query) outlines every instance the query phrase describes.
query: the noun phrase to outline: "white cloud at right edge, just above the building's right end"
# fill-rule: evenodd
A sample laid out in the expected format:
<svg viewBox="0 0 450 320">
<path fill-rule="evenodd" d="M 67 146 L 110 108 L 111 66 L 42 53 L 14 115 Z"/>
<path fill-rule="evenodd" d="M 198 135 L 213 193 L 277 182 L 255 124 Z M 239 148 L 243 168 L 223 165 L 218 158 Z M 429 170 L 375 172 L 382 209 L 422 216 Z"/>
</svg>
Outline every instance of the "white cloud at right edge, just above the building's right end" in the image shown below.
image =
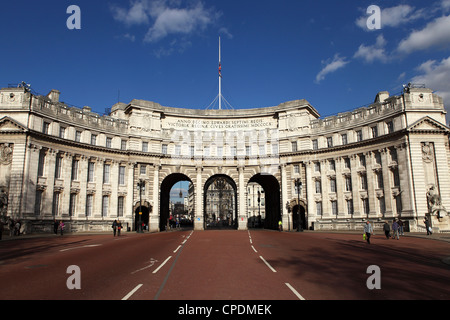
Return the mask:
<svg viewBox="0 0 450 320">
<path fill-rule="evenodd" d="M 417 70 L 421 73 L 411 82 L 425 84 L 427 88 L 437 91 L 437 95 L 444 99 L 447 109 L 450 109 L 450 57 L 438 62 L 428 60 L 422 63 Z"/>
</svg>

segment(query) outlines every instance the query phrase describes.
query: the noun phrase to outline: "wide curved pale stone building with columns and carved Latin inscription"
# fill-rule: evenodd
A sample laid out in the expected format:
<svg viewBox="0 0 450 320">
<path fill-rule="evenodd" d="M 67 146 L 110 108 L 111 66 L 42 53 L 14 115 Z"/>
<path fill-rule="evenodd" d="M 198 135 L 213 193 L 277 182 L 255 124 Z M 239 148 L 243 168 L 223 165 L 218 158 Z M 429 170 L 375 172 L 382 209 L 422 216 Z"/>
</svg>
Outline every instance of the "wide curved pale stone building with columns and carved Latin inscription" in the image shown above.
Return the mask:
<svg viewBox="0 0 450 320">
<path fill-rule="evenodd" d="M 198 110 L 133 100 L 100 115 L 14 86 L 0 90 L 0 210 L 24 232 L 109 231 L 119 219 L 167 228 L 169 193 L 191 183 L 192 225 L 207 228 L 206 193 L 226 183 L 229 225 L 245 230 L 251 184 L 264 193 L 260 226 L 362 230 L 401 219 L 450 231 L 449 127 L 424 86 L 374 93 L 366 107 L 321 117 L 306 100 Z M 369 99 L 370 97 L 368 97 Z M 258 198 L 259 201 L 259 198 Z"/>
</svg>

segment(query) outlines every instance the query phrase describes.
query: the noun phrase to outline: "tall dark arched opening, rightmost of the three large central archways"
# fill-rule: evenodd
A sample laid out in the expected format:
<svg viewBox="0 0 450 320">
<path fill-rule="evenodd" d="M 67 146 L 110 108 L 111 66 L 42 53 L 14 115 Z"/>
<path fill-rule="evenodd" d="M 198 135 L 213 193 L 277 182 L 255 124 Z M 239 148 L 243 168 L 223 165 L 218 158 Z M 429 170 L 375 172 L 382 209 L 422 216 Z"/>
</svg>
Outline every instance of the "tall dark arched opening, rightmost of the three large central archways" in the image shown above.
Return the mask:
<svg viewBox="0 0 450 320">
<path fill-rule="evenodd" d="M 277 230 L 278 221 L 281 220 L 280 184 L 278 183 L 278 180 L 272 175 L 256 174 L 249 180 L 248 186 L 252 186 L 252 183 L 259 184 L 264 192 L 264 219 L 261 215 L 261 224 L 259 227 Z M 262 191 L 260 191 L 260 194 L 262 194 Z M 247 199 L 247 201 L 249 200 L 252 201 L 252 199 Z M 260 196 L 258 214 L 260 213 L 259 209 L 262 206 L 261 200 L 262 197 Z M 255 219 L 250 219 L 253 215 L 251 215 L 250 212 L 248 214 L 249 223 L 259 221 L 258 216 L 256 216 Z M 250 224 L 249 227 L 251 227 Z"/>
</svg>

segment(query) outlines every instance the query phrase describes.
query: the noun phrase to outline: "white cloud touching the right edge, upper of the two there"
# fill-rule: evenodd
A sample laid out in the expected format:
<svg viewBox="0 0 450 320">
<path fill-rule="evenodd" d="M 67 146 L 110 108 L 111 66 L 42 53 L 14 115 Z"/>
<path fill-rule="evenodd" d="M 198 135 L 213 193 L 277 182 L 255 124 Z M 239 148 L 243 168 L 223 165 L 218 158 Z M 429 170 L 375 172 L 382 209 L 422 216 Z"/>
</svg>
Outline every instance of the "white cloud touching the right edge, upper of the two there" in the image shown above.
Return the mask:
<svg viewBox="0 0 450 320">
<path fill-rule="evenodd" d="M 444 16 L 428 23 L 424 29 L 412 32 L 400 42 L 398 51 L 411 53 L 431 47 L 448 46 L 450 46 L 450 16 Z"/>
</svg>

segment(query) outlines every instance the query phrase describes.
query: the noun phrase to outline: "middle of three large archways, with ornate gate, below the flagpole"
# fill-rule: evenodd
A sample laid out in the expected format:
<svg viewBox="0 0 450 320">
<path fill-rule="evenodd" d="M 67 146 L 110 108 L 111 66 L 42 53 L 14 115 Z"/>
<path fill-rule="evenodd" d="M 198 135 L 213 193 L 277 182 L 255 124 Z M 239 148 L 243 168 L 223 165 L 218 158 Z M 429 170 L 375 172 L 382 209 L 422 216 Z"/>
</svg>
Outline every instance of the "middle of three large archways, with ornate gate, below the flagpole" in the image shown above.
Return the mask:
<svg viewBox="0 0 450 320">
<path fill-rule="evenodd" d="M 218 174 L 208 179 L 203 192 L 205 229 L 237 229 L 237 187 L 233 179 Z"/>
</svg>

